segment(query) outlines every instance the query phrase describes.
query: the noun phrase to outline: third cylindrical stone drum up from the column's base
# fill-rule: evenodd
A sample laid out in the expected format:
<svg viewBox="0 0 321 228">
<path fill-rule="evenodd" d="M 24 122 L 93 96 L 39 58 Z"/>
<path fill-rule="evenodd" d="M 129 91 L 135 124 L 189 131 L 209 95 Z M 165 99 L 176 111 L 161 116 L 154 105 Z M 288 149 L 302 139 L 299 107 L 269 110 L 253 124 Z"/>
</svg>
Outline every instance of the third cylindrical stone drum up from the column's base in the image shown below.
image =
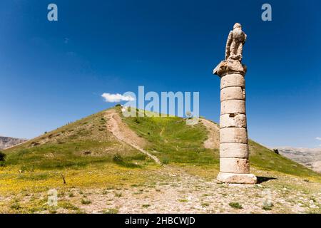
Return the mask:
<svg viewBox="0 0 321 228">
<path fill-rule="evenodd" d="M 248 143 L 248 131 L 246 128 L 220 128 L 221 143 Z"/>
</svg>

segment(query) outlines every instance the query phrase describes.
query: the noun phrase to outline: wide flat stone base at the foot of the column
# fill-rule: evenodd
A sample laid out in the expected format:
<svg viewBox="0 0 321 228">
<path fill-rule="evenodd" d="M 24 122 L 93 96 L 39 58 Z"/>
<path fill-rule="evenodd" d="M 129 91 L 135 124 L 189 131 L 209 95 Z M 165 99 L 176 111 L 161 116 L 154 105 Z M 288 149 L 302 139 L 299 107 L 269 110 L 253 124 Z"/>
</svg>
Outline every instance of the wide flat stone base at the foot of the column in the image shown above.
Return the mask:
<svg viewBox="0 0 321 228">
<path fill-rule="evenodd" d="M 230 184 L 247 184 L 255 185 L 258 180 L 253 174 L 243 173 L 230 173 L 230 172 L 219 172 L 218 181 L 230 183 Z"/>
</svg>

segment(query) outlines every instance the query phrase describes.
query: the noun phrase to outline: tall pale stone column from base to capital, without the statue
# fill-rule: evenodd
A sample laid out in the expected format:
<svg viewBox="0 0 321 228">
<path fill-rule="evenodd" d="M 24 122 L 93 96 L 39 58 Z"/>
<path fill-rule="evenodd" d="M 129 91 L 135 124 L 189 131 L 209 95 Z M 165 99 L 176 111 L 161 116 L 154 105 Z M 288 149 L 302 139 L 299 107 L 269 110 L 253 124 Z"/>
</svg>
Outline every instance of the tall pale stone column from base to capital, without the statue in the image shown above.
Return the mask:
<svg viewBox="0 0 321 228">
<path fill-rule="evenodd" d="M 246 66 L 240 61 L 222 61 L 213 71 L 220 76 L 220 173 L 218 180 L 255 184 L 248 161 L 248 130 L 245 112 Z"/>
</svg>

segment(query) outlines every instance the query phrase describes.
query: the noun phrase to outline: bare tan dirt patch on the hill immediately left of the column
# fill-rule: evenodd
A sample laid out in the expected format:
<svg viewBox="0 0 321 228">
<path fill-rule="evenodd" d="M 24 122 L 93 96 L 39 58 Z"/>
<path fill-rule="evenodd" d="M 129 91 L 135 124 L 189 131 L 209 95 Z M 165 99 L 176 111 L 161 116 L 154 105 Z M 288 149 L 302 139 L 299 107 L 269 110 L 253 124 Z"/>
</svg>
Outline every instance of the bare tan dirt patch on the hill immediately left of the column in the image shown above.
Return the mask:
<svg viewBox="0 0 321 228">
<path fill-rule="evenodd" d="M 208 139 L 205 140 L 204 147 L 206 149 L 218 149 L 220 146 L 220 128 L 218 128 L 218 125 L 203 118 L 200 118 L 200 123 L 203 123 L 208 130 Z"/>
</svg>

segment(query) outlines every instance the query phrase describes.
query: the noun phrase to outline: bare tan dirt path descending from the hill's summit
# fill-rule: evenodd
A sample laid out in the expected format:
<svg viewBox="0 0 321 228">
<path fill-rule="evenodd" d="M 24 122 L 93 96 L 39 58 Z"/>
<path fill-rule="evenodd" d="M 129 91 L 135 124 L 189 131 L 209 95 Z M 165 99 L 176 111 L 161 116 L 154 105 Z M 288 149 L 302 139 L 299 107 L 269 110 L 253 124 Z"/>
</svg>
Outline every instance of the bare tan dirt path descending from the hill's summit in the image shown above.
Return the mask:
<svg viewBox="0 0 321 228">
<path fill-rule="evenodd" d="M 146 145 L 146 141 L 143 138 L 138 137 L 133 130 L 128 128 L 126 123 L 123 123 L 121 116 L 116 112 L 116 110 L 106 111 L 106 118 L 108 119 L 107 129 L 113 133 L 118 140 L 131 145 L 131 147 L 141 151 L 143 154 L 151 157 L 151 159 L 161 165 L 161 161 L 158 160 L 158 157 L 151 155 L 151 153 L 147 152 L 146 150 L 143 150 L 143 147 Z"/>
</svg>

